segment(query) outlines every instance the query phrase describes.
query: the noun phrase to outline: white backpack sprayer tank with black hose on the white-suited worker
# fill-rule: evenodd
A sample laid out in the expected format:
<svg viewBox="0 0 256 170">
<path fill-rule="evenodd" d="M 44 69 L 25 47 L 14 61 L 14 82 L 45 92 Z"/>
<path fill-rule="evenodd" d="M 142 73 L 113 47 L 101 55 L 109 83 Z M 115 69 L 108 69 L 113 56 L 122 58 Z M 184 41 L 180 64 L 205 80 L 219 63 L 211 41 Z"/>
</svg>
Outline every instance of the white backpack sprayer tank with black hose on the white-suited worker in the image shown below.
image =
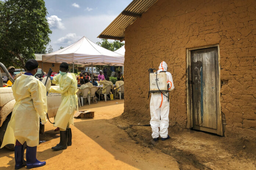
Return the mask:
<svg viewBox="0 0 256 170">
<path fill-rule="evenodd" d="M 150 93 L 161 92 L 162 95 L 166 96 L 163 92 L 168 93 L 166 71 L 160 71 L 160 73 L 153 72 L 156 69 L 149 69 L 149 95 Z M 149 99 L 149 95 L 147 98 Z M 168 96 L 169 102 L 169 93 Z"/>
</svg>

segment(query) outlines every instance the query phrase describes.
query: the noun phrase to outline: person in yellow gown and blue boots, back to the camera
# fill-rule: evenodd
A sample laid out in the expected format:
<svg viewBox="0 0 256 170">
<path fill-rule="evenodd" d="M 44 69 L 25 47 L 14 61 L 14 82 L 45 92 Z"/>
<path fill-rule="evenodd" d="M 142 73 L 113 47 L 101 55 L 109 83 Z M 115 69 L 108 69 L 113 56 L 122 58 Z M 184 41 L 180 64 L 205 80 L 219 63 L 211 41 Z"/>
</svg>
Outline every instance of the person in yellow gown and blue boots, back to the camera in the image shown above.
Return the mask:
<svg viewBox="0 0 256 170">
<path fill-rule="evenodd" d="M 47 122 L 46 88 L 33 75 L 38 70 L 38 62 L 29 59 L 26 64 L 26 73 L 18 77 L 13 86 L 15 104 L 1 148 L 7 144 L 15 144 L 15 169 L 26 166 L 27 169 L 40 167 L 46 164 L 36 159 L 36 149 L 39 144 L 39 123 Z M 24 160 L 24 142 L 26 141 L 26 161 Z"/>
</svg>

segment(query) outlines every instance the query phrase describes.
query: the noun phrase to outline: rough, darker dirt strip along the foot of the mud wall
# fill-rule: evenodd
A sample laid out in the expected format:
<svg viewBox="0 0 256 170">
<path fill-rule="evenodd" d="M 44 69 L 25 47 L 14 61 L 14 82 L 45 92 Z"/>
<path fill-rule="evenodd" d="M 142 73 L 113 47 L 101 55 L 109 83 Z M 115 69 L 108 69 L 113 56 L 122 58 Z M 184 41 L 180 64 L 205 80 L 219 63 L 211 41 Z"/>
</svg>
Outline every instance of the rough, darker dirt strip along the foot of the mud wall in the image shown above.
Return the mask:
<svg viewBox="0 0 256 170">
<path fill-rule="evenodd" d="M 129 116 L 127 116 L 129 115 Z M 137 119 L 142 117 L 142 120 Z M 172 156 L 180 170 L 256 170 L 256 142 L 246 138 L 226 138 L 216 134 L 181 129 L 169 125 L 170 140 L 154 142 L 151 137 L 150 117 L 122 114 L 110 122 L 124 129 L 144 147 L 160 149 Z"/>
</svg>

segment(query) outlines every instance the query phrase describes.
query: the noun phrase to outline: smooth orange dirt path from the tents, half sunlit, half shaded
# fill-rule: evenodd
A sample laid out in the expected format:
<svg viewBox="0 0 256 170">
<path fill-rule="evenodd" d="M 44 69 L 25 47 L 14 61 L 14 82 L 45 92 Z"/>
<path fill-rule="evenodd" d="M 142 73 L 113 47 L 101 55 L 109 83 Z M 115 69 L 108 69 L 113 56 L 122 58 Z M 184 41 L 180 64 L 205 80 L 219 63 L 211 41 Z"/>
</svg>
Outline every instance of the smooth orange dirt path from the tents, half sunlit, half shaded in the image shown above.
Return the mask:
<svg viewBox="0 0 256 170">
<path fill-rule="evenodd" d="M 49 122 L 46 124 L 45 133 L 40 136 L 40 140 L 46 142 L 38 146 L 37 152 L 39 160 L 46 160 L 46 166 L 38 169 L 179 169 L 172 156 L 136 144 L 124 130 L 109 123 L 108 119 L 122 114 L 124 100 L 86 104 L 80 109 L 96 111 L 95 118 L 74 119 L 75 126 L 71 126 L 72 146 L 65 150 L 51 150 L 59 142 L 59 134 L 53 131 Z M 14 164 L 14 152 L 0 149 L 0 170 L 13 170 Z"/>
</svg>

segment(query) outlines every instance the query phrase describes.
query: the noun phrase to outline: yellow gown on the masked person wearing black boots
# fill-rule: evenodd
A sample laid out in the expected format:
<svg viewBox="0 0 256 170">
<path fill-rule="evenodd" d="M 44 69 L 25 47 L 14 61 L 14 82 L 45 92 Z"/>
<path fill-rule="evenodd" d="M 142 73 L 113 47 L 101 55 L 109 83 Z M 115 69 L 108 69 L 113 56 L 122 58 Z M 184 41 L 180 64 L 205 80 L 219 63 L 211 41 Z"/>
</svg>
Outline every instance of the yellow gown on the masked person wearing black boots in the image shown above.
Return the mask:
<svg viewBox="0 0 256 170">
<path fill-rule="evenodd" d="M 59 84 L 60 87 L 51 87 L 49 92 L 61 94 L 61 104 L 58 108 L 53 126 L 66 129 L 68 122 L 74 125 L 73 115 L 75 108 L 78 108 L 78 97 L 76 94 L 78 90 L 77 79 L 75 74 L 66 73 L 64 75 L 58 74 L 54 76 L 52 82 L 53 84 Z"/>
</svg>

